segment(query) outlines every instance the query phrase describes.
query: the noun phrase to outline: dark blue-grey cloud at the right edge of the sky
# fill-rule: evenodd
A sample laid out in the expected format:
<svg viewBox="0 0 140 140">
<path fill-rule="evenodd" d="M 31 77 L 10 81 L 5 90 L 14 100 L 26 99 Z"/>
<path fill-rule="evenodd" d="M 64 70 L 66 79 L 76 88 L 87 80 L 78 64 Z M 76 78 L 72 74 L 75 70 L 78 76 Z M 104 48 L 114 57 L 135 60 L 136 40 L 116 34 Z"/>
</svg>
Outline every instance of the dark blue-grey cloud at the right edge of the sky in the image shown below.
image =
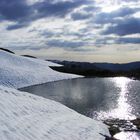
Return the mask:
<svg viewBox="0 0 140 140">
<path fill-rule="evenodd" d="M 140 18 L 124 18 L 119 20 L 116 25 L 109 26 L 103 35 L 116 34 L 119 36 L 140 33 Z"/>
</svg>

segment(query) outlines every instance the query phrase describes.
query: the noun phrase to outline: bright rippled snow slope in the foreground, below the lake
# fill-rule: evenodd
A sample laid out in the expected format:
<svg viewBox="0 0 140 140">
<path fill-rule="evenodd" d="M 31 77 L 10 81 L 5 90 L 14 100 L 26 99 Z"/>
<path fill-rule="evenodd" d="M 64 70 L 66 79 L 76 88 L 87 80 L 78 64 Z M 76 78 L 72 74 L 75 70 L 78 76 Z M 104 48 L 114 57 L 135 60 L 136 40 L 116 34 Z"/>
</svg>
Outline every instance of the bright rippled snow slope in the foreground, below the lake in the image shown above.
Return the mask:
<svg viewBox="0 0 140 140">
<path fill-rule="evenodd" d="M 1 140 L 104 140 L 107 127 L 42 97 L 0 86 Z"/>
</svg>

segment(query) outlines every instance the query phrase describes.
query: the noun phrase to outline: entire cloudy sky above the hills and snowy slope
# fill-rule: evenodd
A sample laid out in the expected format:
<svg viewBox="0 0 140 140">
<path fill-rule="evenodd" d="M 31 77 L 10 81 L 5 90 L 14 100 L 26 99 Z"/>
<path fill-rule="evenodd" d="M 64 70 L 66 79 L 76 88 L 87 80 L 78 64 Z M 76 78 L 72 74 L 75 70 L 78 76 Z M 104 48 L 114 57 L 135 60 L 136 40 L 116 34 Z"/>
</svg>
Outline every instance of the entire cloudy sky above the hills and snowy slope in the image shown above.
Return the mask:
<svg viewBox="0 0 140 140">
<path fill-rule="evenodd" d="M 43 59 L 140 61 L 140 0 L 0 0 L 0 47 Z"/>
</svg>

